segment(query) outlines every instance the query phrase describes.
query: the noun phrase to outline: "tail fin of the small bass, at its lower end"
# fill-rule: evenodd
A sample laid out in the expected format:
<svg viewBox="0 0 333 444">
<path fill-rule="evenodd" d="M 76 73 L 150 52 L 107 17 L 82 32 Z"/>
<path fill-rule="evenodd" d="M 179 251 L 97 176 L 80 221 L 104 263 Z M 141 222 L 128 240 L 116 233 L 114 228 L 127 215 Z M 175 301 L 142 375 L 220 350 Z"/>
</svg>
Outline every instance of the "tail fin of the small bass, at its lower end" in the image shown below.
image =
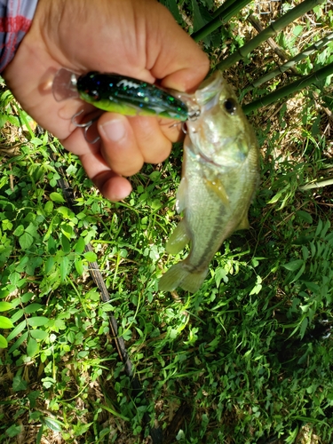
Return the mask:
<svg viewBox="0 0 333 444">
<path fill-rule="evenodd" d="M 191 272 L 186 269 L 184 261 L 178 262 L 178 264 L 171 266 L 166 274 L 163 274 L 158 288 L 160 291 L 172 291 L 177 289 L 177 287 L 181 287 L 186 291 L 195 293 L 195 291 L 200 289 L 207 273 L 207 268 L 200 272 Z"/>
</svg>

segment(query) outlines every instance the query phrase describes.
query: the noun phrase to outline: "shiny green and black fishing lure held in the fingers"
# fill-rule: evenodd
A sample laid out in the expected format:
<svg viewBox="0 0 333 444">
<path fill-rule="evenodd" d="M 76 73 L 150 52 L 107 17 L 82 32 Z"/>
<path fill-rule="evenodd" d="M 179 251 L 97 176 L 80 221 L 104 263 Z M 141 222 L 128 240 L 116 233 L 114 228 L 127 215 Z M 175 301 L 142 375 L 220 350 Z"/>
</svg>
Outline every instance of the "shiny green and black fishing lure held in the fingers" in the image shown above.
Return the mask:
<svg viewBox="0 0 333 444">
<path fill-rule="evenodd" d="M 154 84 L 95 71 L 75 75 L 60 69 L 52 85 L 57 101 L 79 97 L 103 111 L 122 115 L 155 115 L 185 122 L 192 117 L 186 103 Z"/>
</svg>

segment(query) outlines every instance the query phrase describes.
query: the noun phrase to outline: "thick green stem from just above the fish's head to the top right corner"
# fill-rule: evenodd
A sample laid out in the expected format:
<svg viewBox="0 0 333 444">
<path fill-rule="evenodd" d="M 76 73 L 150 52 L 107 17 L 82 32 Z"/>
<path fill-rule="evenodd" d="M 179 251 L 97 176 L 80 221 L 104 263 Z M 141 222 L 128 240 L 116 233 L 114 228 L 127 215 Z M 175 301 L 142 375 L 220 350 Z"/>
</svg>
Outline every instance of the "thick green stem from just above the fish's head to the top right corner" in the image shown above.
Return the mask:
<svg viewBox="0 0 333 444">
<path fill-rule="evenodd" d="M 258 36 L 252 38 L 250 42 L 244 44 L 242 48 L 239 48 L 236 52 L 234 52 L 234 54 L 218 63 L 217 68 L 223 71 L 227 67 L 232 67 L 237 61 L 246 57 L 251 51 L 258 48 L 258 46 L 265 42 L 269 37 L 274 36 L 281 31 L 282 28 L 286 28 L 289 23 L 298 19 L 298 17 L 304 15 L 306 12 L 311 11 L 317 4 L 322 4 L 324 2 L 325 0 L 305 0 L 301 4 L 298 4 L 295 8 L 284 14 L 280 19 L 274 21 L 274 23 L 272 23 L 268 28 L 264 29 L 264 31 L 258 34 Z"/>
</svg>

